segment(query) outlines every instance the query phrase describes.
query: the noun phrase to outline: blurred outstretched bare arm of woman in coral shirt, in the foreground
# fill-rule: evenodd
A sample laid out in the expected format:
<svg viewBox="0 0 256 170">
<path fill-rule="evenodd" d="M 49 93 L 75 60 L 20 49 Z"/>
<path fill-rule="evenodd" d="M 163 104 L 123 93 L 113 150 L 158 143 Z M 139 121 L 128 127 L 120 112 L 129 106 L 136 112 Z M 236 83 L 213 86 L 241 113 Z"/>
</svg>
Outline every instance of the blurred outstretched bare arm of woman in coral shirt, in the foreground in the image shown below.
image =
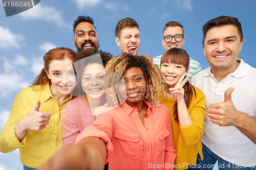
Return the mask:
<svg viewBox="0 0 256 170">
<path fill-rule="evenodd" d="M 38 170 L 103 169 L 106 159 L 106 145 L 96 137 L 87 137 L 78 144 L 61 148 Z"/>
</svg>

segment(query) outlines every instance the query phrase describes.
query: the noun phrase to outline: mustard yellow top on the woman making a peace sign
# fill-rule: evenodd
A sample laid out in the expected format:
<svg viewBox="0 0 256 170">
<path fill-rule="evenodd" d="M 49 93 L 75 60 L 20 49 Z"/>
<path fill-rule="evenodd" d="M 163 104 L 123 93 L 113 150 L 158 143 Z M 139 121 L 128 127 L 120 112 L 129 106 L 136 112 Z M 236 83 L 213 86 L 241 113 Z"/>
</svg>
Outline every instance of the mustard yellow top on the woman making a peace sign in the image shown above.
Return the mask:
<svg viewBox="0 0 256 170">
<path fill-rule="evenodd" d="M 188 127 L 180 127 L 179 123 L 174 120 L 174 104 L 175 98 L 166 98 L 163 94 L 163 85 L 161 85 L 161 94 L 159 98 L 162 104 L 167 106 L 172 122 L 174 148 L 177 151 L 175 160 L 175 170 L 187 169 L 188 164 L 196 164 L 197 154 L 199 153 L 203 159 L 201 137 L 204 133 L 205 119 L 205 94 L 202 90 L 195 87 L 197 96 L 193 91 L 193 97 L 188 107 L 188 113 L 193 121 Z M 183 166 L 184 165 L 184 166 Z"/>
</svg>

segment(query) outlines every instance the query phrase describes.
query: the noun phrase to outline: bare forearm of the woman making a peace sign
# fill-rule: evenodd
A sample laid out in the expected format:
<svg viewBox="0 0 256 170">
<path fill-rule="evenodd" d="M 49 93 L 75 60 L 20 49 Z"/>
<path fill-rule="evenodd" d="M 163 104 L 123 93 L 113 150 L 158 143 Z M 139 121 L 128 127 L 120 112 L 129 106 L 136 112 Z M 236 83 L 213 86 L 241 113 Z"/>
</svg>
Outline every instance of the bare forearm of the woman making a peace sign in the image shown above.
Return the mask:
<svg viewBox="0 0 256 170">
<path fill-rule="evenodd" d="M 184 100 L 177 101 L 178 105 L 178 117 L 180 127 L 188 127 L 193 123 L 189 113 L 187 111 L 187 107 Z"/>
</svg>

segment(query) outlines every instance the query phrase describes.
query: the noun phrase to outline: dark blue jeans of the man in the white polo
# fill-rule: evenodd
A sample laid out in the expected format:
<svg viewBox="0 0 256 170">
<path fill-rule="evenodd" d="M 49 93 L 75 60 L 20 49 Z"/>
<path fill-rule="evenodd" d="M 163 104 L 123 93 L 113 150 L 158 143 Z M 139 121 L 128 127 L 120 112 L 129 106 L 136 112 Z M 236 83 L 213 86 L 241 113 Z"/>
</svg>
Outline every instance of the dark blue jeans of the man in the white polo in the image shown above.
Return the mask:
<svg viewBox="0 0 256 170">
<path fill-rule="evenodd" d="M 204 145 L 204 143 L 202 142 L 203 145 L 203 161 L 201 162 L 201 168 L 202 170 L 212 170 L 212 168 L 214 168 L 216 165 L 216 161 L 218 160 L 218 166 L 219 166 L 219 170 L 229 170 L 229 169 L 234 169 L 234 170 L 255 170 L 256 166 L 251 165 L 251 167 L 245 167 L 245 166 L 239 166 L 233 163 L 230 163 L 228 161 L 225 161 L 224 159 L 220 158 L 219 156 L 217 156 L 215 153 L 211 152 L 211 150 L 209 148 L 206 147 L 206 145 Z"/>
</svg>

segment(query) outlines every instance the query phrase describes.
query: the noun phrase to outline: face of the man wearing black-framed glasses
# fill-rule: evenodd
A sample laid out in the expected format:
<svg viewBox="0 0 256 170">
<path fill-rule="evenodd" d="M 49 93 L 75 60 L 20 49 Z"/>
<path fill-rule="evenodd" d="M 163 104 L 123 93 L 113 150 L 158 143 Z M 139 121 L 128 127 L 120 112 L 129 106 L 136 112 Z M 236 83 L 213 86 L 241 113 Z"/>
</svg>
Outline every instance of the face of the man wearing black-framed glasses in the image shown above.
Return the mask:
<svg viewBox="0 0 256 170">
<path fill-rule="evenodd" d="M 178 35 L 178 34 L 184 34 L 183 29 L 179 26 L 173 26 L 173 27 L 167 27 L 166 30 L 163 32 L 163 36 L 166 35 Z M 182 45 L 185 43 L 185 38 L 183 38 L 182 41 L 176 41 L 173 37 L 172 41 L 170 42 L 165 42 L 163 39 L 162 45 L 164 46 L 164 50 L 168 51 L 170 48 L 182 48 Z"/>
</svg>

